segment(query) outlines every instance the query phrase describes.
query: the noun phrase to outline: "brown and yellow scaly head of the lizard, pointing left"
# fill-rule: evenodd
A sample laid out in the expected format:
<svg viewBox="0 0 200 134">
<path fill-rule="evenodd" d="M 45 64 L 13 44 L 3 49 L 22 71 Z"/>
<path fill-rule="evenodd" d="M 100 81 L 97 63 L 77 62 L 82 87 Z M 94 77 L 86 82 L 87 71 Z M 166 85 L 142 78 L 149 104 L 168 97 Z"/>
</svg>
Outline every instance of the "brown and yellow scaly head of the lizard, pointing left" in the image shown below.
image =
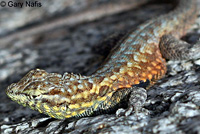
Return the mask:
<svg viewBox="0 0 200 134">
<path fill-rule="evenodd" d="M 13 101 L 32 109 L 40 108 L 39 105 L 43 103 L 58 105 L 64 101 L 63 98 L 66 98 L 63 97 L 66 93 L 63 93 L 62 82 L 60 74 L 36 69 L 30 71 L 18 83 L 11 84 L 6 94 Z"/>
</svg>

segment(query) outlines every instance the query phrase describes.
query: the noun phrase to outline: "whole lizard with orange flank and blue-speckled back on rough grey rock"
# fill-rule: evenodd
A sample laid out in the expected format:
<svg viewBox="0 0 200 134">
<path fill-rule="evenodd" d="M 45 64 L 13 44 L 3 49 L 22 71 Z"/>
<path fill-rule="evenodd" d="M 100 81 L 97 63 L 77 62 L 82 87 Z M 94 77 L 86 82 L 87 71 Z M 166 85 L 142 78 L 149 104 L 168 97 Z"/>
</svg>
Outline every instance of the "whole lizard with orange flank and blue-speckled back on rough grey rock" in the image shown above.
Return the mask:
<svg viewBox="0 0 200 134">
<path fill-rule="evenodd" d="M 117 110 L 141 109 L 147 90 L 164 77 L 166 59 L 200 58 L 200 45 L 179 40 L 197 17 L 196 0 L 179 0 L 176 8 L 141 24 L 115 47 L 90 76 L 31 70 L 6 93 L 23 106 L 57 119 L 81 118 Z"/>
</svg>

